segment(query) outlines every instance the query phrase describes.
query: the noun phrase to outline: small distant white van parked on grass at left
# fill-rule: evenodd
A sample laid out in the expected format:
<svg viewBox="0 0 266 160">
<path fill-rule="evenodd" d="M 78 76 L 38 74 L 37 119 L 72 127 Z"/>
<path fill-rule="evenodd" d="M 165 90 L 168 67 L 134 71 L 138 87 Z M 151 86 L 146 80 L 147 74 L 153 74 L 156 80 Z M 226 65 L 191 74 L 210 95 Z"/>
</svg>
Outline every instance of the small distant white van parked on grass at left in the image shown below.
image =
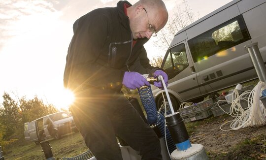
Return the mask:
<svg viewBox="0 0 266 160">
<path fill-rule="evenodd" d="M 60 139 L 63 134 L 77 132 L 73 117 L 66 112 L 57 112 L 24 124 L 25 140 L 38 144 L 44 139 Z"/>
</svg>

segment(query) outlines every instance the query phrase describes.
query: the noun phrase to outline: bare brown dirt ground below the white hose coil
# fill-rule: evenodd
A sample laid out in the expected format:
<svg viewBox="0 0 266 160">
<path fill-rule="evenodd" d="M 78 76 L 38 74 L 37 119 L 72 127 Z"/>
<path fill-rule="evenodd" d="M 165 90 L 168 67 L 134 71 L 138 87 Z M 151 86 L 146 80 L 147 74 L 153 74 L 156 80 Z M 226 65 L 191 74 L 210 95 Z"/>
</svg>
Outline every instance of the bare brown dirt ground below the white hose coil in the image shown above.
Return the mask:
<svg viewBox="0 0 266 160">
<path fill-rule="evenodd" d="M 202 144 L 210 160 L 266 160 L 266 125 L 223 131 L 220 126 L 233 118 L 211 117 L 190 133 L 191 143 Z M 230 123 L 223 129 L 228 129 Z"/>
</svg>

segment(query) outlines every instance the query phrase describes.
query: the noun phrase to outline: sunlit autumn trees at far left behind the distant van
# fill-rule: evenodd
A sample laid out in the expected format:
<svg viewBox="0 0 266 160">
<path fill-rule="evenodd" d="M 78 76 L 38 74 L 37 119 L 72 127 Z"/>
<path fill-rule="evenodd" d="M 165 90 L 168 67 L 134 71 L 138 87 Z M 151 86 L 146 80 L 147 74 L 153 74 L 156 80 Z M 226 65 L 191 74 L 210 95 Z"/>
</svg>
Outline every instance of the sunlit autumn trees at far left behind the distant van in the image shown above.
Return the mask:
<svg viewBox="0 0 266 160">
<path fill-rule="evenodd" d="M 37 96 L 30 100 L 25 96 L 17 98 L 18 102 L 9 94 L 3 94 L 3 103 L 0 107 L 0 145 L 3 146 L 24 140 L 24 123 L 58 112 L 52 104 L 43 104 Z"/>
</svg>

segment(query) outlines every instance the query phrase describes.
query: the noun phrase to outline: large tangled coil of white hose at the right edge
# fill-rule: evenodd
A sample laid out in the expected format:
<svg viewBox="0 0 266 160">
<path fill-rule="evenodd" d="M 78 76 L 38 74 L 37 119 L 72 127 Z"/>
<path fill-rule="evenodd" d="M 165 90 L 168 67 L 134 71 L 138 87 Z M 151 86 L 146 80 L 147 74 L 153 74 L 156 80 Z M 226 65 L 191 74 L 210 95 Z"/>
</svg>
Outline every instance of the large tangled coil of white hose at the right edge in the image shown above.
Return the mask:
<svg viewBox="0 0 266 160">
<path fill-rule="evenodd" d="M 232 103 L 230 112 L 227 113 L 234 117 L 234 120 L 224 123 L 220 128 L 227 124 L 230 124 L 230 129 L 222 130 L 237 130 L 239 128 L 252 127 L 266 125 L 266 108 L 262 104 L 260 97 L 263 90 L 266 89 L 266 84 L 260 81 L 252 91 L 246 91 L 239 96 L 237 90 L 233 90 L 232 102 L 227 100 L 219 100 L 218 106 L 223 110 L 219 105 L 220 101 L 227 101 Z M 235 98 L 233 100 L 233 98 Z M 247 109 L 243 109 L 240 100 L 246 100 L 248 103 Z"/>
</svg>

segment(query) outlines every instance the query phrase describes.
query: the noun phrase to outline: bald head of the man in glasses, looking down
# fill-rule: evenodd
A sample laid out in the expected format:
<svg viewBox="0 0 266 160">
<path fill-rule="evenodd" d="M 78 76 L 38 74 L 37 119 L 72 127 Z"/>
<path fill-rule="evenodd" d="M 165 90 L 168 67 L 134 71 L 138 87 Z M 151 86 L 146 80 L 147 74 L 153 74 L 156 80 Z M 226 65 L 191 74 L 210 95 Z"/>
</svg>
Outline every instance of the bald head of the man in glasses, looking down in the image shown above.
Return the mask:
<svg viewBox="0 0 266 160">
<path fill-rule="evenodd" d="M 152 35 L 144 33 L 142 25 L 146 25 L 146 29 L 151 25 L 155 32 L 159 32 L 168 20 L 166 5 L 162 0 L 139 0 L 127 10 L 133 34 L 140 34 L 135 38 L 150 38 Z"/>
</svg>

